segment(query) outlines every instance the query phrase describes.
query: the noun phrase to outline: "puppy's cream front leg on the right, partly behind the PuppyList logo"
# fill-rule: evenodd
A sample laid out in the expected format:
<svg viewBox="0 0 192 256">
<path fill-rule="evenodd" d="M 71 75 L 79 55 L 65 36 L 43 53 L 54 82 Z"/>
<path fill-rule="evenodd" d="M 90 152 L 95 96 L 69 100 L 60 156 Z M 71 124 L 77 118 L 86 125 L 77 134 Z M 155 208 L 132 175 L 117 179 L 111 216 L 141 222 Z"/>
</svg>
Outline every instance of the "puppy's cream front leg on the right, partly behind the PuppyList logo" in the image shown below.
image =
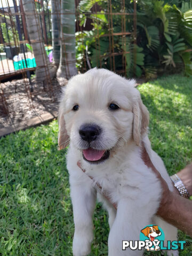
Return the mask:
<svg viewBox="0 0 192 256">
<path fill-rule="evenodd" d="M 150 224 L 150 214 L 138 201 L 126 198 L 118 202 L 117 214 L 108 238 L 108 256 L 139 256 L 142 250 L 122 250 L 122 241 L 139 241 L 141 229 Z"/>
</svg>

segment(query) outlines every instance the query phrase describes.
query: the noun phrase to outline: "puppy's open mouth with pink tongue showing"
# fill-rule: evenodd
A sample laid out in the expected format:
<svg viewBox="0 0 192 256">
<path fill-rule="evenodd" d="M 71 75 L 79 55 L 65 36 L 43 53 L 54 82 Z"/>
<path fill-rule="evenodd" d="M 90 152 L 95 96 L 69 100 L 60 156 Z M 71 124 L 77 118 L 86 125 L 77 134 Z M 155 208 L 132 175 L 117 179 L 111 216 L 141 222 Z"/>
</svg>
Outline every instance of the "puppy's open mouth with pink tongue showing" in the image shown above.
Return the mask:
<svg viewBox="0 0 192 256">
<path fill-rule="evenodd" d="M 98 164 L 109 158 L 109 150 L 97 150 L 93 148 L 83 149 L 83 159 L 92 164 Z"/>
</svg>

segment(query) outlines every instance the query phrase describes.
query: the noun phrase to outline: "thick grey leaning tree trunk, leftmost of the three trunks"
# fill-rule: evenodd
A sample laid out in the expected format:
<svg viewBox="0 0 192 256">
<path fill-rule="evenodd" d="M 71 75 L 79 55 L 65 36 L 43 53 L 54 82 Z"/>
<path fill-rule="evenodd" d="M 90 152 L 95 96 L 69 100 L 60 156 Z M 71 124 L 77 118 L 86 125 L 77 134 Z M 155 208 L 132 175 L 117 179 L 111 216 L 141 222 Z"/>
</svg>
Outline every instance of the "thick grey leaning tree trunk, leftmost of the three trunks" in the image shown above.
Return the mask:
<svg viewBox="0 0 192 256">
<path fill-rule="evenodd" d="M 35 73 L 36 81 L 40 82 L 51 79 L 55 75 L 56 69 L 51 65 L 46 55 L 39 14 L 37 14 L 35 9 L 34 0 L 23 0 L 23 9 L 26 14 L 27 30 L 37 65 Z"/>
</svg>

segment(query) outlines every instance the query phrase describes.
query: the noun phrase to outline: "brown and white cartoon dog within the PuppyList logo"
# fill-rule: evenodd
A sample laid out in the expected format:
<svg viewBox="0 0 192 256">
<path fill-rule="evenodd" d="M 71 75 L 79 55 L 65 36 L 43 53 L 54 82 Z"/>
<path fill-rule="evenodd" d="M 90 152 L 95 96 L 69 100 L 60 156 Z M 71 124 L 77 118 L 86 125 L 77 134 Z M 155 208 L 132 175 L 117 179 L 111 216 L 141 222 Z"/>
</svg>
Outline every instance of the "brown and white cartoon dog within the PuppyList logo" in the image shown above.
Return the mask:
<svg viewBox="0 0 192 256">
<path fill-rule="evenodd" d="M 159 230 L 157 225 L 147 226 L 146 228 L 141 229 L 141 233 L 144 234 L 149 239 L 145 239 L 147 251 L 159 251 L 159 239 L 158 236 L 162 235 L 162 232 Z"/>
</svg>

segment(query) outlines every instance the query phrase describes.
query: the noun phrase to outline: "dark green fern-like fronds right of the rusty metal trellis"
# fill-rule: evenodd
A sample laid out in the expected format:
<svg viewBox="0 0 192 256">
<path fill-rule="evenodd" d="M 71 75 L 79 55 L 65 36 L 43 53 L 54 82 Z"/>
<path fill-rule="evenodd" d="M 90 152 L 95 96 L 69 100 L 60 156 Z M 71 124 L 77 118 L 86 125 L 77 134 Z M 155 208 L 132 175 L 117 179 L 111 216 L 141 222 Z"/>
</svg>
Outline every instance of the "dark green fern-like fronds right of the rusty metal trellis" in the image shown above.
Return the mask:
<svg viewBox="0 0 192 256">
<path fill-rule="evenodd" d="M 169 67 L 176 70 L 177 66 L 182 64 L 185 73 L 192 75 L 192 70 L 190 71 L 188 64 L 185 63 L 187 60 L 189 62 L 190 53 L 187 56 L 183 55 L 191 47 L 192 42 L 190 13 L 189 10 L 187 19 L 186 13 L 182 13 L 175 5 L 164 4 L 163 1 L 152 0 L 149 5 L 140 6 L 138 30 L 141 33 L 138 44 L 145 52 L 146 76 L 150 77 L 151 74 L 147 73 L 157 72 L 159 68 Z M 150 66 L 150 69 L 146 70 L 146 66 Z"/>
</svg>

